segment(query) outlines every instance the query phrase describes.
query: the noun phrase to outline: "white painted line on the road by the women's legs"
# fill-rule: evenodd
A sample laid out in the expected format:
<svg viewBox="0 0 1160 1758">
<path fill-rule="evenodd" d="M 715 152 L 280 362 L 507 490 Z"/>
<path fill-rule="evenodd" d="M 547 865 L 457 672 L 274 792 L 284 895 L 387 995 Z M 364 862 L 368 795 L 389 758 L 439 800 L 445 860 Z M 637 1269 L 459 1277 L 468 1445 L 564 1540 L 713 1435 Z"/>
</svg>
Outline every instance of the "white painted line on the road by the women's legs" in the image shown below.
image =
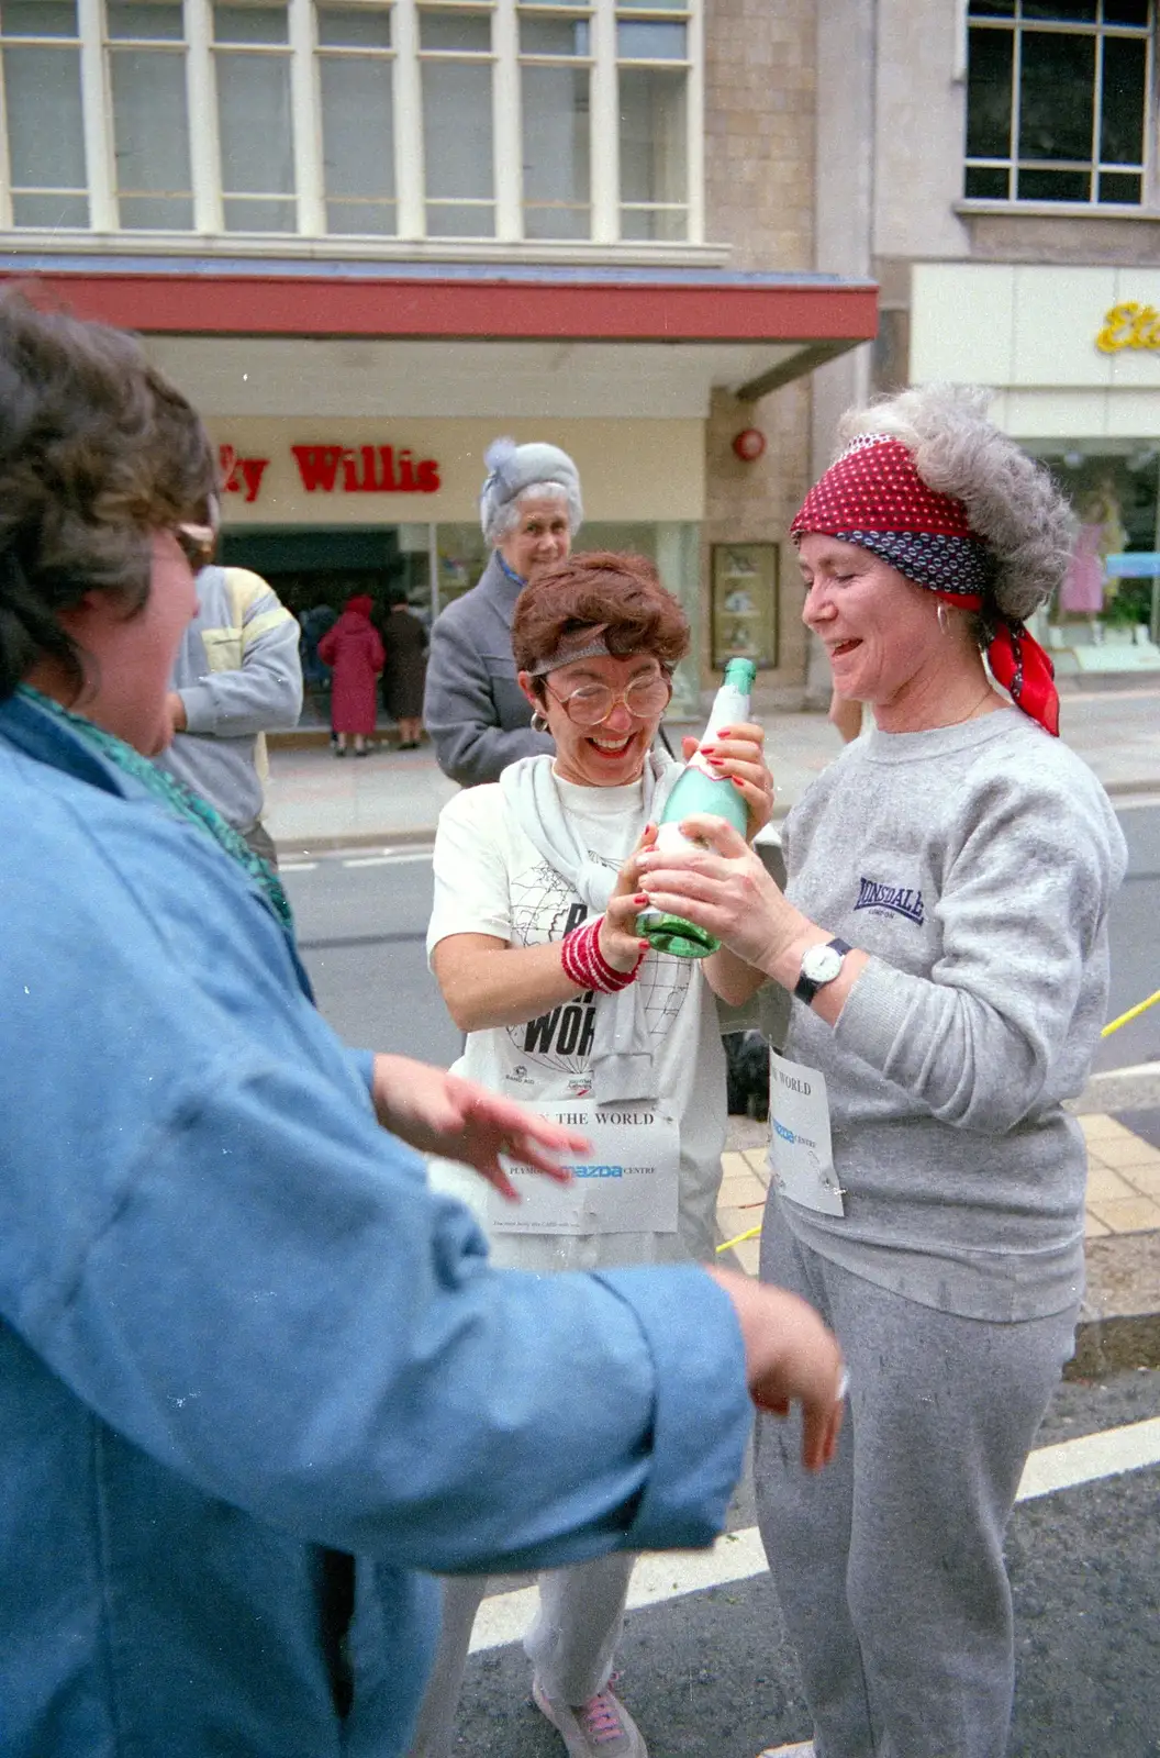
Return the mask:
<svg viewBox="0 0 1160 1758">
<path fill-rule="evenodd" d="M 1033 1501 L 1058 1489 L 1090 1484 L 1120 1471 L 1160 1464 L 1160 1417 L 1127 1427 L 1081 1435 L 1055 1447 L 1039 1447 L 1026 1461 L 1016 1501 Z M 659 1605 L 685 1593 L 705 1593 L 731 1580 L 765 1573 L 765 1551 L 756 1526 L 722 1533 L 710 1551 L 656 1551 L 642 1556 L 633 1570 L 627 1609 Z M 536 1587 L 496 1593 L 483 1600 L 471 1633 L 471 1653 L 518 1642 L 536 1614 Z"/>
</svg>

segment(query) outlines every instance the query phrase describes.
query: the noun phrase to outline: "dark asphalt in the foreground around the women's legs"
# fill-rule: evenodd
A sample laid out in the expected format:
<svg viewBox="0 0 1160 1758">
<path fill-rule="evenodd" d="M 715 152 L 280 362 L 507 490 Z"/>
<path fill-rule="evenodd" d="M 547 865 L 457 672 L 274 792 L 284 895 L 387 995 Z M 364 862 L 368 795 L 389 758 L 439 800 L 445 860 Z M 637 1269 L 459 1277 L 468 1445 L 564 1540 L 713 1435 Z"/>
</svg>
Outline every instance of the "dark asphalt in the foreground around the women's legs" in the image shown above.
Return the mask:
<svg viewBox="0 0 1160 1758">
<path fill-rule="evenodd" d="M 1156 1371 L 1062 1385 L 1040 1445 L 1156 1415 Z M 1160 1468 L 1016 1508 L 1007 1536 L 1018 1665 L 1009 1758 L 1160 1758 L 1158 1512 Z M 729 1526 L 752 1519 L 743 1486 Z M 765 1575 L 629 1612 L 617 1665 L 652 1758 L 754 1758 L 810 1733 Z M 561 1758 L 562 1744 L 527 1689 L 518 1644 L 471 1656 L 455 1758 Z"/>
</svg>

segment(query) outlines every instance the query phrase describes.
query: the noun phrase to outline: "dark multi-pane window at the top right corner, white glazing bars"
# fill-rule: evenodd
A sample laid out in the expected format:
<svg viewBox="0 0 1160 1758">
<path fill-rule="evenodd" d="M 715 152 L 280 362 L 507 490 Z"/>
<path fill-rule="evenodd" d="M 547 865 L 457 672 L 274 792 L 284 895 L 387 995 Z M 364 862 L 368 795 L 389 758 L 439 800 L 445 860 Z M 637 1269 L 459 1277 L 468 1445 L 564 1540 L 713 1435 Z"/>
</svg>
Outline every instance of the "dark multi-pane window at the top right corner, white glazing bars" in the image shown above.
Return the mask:
<svg viewBox="0 0 1160 1758">
<path fill-rule="evenodd" d="M 970 0 L 965 193 L 1139 207 L 1151 0 Z"/>
</svg>

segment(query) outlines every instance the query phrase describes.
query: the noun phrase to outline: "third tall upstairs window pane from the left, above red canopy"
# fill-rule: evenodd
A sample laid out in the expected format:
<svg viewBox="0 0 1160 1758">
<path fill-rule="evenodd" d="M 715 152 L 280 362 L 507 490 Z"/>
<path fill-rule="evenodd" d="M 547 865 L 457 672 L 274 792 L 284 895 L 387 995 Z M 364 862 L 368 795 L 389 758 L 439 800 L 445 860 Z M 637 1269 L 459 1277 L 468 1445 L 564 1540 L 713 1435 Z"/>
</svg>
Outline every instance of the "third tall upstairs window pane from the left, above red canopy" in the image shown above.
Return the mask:
<svg viewBox="0 0 1160 1758">
<path fill-rule="evenodd" d="M 214 5 L 221 216 L 227 232 L 294 232 L 290 19 L 283 4 Z"/>
</svg>

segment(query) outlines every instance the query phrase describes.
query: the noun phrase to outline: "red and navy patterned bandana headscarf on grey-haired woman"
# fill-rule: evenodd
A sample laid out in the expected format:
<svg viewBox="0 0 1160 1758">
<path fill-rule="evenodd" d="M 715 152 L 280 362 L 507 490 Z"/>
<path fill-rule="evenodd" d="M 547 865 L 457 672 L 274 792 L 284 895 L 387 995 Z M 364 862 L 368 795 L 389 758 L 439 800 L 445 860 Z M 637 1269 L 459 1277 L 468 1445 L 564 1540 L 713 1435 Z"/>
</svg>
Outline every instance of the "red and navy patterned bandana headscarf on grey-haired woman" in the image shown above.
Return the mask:
<svg viewBox="0 0 1160 1758">
<path fill-rule="evenodd" d="M 1005 617 L 990 592 L 997 563 L 967 520 L 967 508 L 928 489 L 900 440 L 863 434 L 814 483 L 789 527 L 840 538 L 866 548 L 916 585 L 960 610 L 979 610 L 995 622 L 986 650 L 995 679 L 1033 721 L 1060 735 L 1055 666 L 1039 642 L 1014 617 Z"/>
</svg>

